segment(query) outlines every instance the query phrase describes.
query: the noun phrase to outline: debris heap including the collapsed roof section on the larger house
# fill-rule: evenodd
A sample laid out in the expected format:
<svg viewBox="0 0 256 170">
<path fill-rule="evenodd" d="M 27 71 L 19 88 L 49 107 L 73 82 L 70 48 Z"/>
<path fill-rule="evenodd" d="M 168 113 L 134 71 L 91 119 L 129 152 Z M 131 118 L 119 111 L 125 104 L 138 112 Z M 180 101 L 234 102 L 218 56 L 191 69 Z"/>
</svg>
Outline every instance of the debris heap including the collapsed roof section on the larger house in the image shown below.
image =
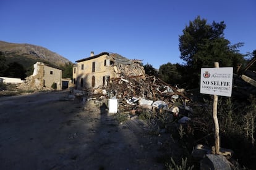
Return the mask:
<svg viewBox="0 0 256 170">
<path fill-rule="evenodd" d="M 83 100 L 118 99 L 118 111 L 126 113 L 147 108 L 178 115 L 180 108 L 188 108 L 186 103 L 191 100 L 185 90 L 172 87 L 155 76 L 147 76 L 142 60 L 129 60 L 119 54 L 110 54 L 109 60 L 115 76 L 107 79 L 103 86 L 87 89 Z"/>
</svg>

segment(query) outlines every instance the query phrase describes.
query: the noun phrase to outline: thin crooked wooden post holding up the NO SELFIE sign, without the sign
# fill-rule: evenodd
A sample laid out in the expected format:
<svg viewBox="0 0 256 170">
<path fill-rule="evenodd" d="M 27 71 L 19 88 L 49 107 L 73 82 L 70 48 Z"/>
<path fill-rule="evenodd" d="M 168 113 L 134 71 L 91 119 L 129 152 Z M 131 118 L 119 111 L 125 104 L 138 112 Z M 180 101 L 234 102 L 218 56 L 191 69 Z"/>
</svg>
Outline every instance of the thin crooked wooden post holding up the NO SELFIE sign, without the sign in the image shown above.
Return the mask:
<svg viewBox="0 0 256 170">
<path fill-rule="evenodd" d="M 219 63 L 214 63 L 215 68 L 219 68 Z M 213 122 L 215 125 L 215 154 L 220 153 L 220 136 L 219 136 L 219 122 L 217 117 L 218 95 L 213 95 Z"/>
</svg>

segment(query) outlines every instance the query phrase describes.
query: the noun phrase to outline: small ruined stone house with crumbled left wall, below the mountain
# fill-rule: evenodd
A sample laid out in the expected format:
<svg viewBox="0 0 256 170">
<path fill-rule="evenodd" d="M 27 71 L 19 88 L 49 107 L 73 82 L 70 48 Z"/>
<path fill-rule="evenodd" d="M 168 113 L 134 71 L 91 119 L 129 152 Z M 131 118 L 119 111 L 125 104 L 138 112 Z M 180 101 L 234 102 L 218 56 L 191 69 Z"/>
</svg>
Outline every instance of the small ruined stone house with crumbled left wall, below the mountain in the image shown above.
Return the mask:
<svg viewBox="0 0 256 170">
<path fill-rule="evenodd" d="M 51 88 L 56 84 L 56 90 L 62 89 L 62 70 L 53 68 L 43 62 L 36 62 L 34 64 L 33 75 L 30 76 L 33 87 L 48 87 Z"/>
</svg>

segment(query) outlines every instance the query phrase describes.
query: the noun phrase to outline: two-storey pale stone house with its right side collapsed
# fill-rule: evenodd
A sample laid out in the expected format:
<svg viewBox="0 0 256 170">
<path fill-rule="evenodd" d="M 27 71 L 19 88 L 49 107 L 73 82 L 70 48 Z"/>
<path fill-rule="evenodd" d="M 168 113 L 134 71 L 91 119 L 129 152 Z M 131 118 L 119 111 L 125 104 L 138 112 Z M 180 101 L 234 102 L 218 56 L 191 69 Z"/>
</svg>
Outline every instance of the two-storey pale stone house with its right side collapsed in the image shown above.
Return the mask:
<svg viewBox="0 0 256 170">
<path fill-rule="evenodd" d="M 90 57 L 75 62 L 72 82 L 77 89 L 107 86 L 111 79 L 126 76 L 145 76 L 140 60 L 129 60 L 119 54 L 91 52 Z"/>
</svg>

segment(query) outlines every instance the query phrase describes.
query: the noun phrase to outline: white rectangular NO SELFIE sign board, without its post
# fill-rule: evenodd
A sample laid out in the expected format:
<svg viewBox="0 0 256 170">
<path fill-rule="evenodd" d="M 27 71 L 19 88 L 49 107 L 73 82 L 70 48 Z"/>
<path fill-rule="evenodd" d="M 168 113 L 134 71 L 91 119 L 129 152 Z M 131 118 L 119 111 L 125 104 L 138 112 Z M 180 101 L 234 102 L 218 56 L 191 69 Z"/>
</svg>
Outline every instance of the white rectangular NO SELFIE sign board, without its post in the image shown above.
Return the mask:
<svg viewBox="0 0 256 170">
<path fill-rule="evenodd" d="M 233 67 L 201 68 L 200 93 L 231 97 Z"/>
</svg>

